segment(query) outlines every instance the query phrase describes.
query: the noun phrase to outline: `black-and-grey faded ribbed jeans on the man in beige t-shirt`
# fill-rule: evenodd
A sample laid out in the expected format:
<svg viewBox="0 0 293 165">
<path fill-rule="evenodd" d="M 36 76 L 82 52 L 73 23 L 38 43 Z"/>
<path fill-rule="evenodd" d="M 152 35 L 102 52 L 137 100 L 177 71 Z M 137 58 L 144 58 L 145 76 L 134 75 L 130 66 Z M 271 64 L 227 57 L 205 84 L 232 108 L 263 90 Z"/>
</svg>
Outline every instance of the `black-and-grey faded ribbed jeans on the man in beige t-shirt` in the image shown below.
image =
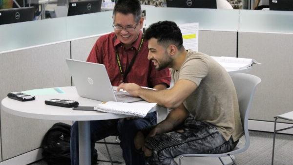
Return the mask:
<svg viewBox="0 0 293 165">
<path fill-rule="evenodd" d="M 189 116 L 175 131 L 156 135 L 146 140 L 146 147 L 153 151 L 146 158 L 147 165 L 177 165 L 173 160 L 188 153 L 216 154 L 232 150 L 237 142 L 224 139 L 219 130 L 208 122 L 196 121 Z"/>
</svg>

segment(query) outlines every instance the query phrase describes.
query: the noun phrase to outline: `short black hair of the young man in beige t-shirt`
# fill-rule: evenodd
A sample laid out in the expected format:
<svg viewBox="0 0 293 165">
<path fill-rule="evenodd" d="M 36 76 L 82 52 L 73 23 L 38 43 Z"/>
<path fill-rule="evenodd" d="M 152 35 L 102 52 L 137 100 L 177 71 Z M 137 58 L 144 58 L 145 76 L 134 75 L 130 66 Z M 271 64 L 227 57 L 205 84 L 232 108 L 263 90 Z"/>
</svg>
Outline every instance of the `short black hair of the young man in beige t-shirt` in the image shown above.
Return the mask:
<svg viewBox="0 0 293 165">
<path fill-rule="evenodd" d="M 163 46 L 174 44 L 178 50 L 183 47 L 183 39 L 180 28 L 173 21 L 159 21 L 151 24 L 145 31 L 144 38 L 150 40 L 155 38 Z"/>
</svg>

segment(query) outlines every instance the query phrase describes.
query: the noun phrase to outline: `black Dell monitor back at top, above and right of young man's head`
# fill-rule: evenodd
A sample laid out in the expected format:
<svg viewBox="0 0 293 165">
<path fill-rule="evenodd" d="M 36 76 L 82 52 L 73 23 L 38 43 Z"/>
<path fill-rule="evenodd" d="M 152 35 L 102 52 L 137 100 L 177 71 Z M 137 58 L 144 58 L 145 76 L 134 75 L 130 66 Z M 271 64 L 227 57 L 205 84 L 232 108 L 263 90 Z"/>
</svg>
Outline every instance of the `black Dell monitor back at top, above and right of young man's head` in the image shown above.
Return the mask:
<svg viewBox="0 0 293 165">
<path fill-rule="evenodd" d="M 167 7 L 216 9 L 216 0 L 167 0 Z"/>
</svg>

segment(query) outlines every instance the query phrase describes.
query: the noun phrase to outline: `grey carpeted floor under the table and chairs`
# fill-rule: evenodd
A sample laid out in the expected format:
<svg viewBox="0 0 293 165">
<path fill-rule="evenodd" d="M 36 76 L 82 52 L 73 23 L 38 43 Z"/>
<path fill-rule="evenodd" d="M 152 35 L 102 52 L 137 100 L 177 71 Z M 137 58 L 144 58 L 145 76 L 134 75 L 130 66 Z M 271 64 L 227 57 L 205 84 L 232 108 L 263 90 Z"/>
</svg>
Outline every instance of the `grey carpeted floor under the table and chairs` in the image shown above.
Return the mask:
<svg viewBox="0 0 293 165">
<path fill-rule="evenodd" d="M 272 133 L 250 131 L 251 145 L 249 149 L 235 155 L 238 165 L 271 165 L 272 161 Z M 115 142 L 115 137 L 106 139 Z M 243 145 L 244 139 L 240 139 L 238 145 Z M 119 145 L 108 144 L 111 157 L 115 161 L 123 162 L 122 150 Z M 104 144 L 96 144 L 98 149 L 98 159 L 108 160 L 108 155 Z M 194 161 L 192 161 L 194 162 Z M 110 165 L 110 163 L 98 162 L 99 165 Z M 31 165 L 47 165 L 44 161 L 39 161 Z M 115 164 L 119 165 L 119 164 Z M 185 164 L 189 165 L 189 164 Z M 191 163 L 190 165 L 195 165 Z M 274 165 L 293 165 L 293 135 L 277 134 L 275 144 Z"/>
</svg>

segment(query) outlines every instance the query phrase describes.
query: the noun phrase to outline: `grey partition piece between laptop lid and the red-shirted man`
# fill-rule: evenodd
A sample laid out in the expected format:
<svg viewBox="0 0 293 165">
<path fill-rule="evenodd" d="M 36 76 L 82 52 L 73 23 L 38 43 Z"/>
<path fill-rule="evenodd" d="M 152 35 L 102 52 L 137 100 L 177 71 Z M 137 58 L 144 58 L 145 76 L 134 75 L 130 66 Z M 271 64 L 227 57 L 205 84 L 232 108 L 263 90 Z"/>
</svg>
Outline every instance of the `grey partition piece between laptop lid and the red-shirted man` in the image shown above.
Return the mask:
<svg viewBox="0 0 293 165">
<path fill-rule="evenodd" d="M 94 44 L 100 36 L 71 41 L 71 59 L 86 61 Z"/>
</svg>

